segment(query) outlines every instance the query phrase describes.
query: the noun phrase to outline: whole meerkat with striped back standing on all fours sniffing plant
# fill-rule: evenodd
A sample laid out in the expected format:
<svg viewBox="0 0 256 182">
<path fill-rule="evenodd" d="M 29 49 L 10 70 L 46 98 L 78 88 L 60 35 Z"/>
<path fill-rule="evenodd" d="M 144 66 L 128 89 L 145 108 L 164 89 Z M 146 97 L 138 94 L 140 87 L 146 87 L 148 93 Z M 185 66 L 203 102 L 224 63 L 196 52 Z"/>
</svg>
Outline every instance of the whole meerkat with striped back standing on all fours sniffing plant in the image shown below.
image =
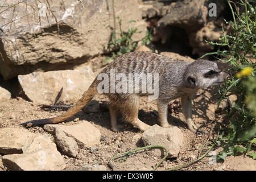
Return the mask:
<svg viewBox="0 0 256 182">
<path fill-rule="evenodd" d="M 192 98 L 193 94 L 201 88 L 208 88 L 213 85 L 220 85 L 228 76 L 227 73 L 218 69 L 217 64 L 208 60 L 195 60 L 193 63 L 174 60 L 170 57 L 152 52 L 131 52 L 117 57 L 105 69 L 101 71 L 110 76 L 111 71 L 115 73 L 151 73 L 158 75 L 158 98 L 156 98 L 159 122 L 162 127 L 170 127 L 167 121 L 167 107 L 171 100 L 181 98 L 181 107 L 187 121 L 188 129 L 197 133 L 197 127 L 192 119 Z M 100 74 L 101 74 L 100 73 Z M 100 75 L 99 74 L 99 75 Z M 98 77 L 98 76 L 97 76 Z M 110 100 L 110 122 L 113 131 L 117 129 L 117 114 L 122 113 L 125 120 L 134 127 L 144 131 L 150 127 L 138 119 L 139 96 L 150 96 L 149 93 L 99 93 L 99 78 L 90 85 L 87 92 L 80 98 L 77 104 L 71 107 L 66 113 L 48 119 L 38 119 L 22 123 L 21 125 L 31 127 L 46 124 L 60 123 L 75 115 L 86 104 L 88 104 L 96 94 L 106 94 Z M 117 84 L 117 80 L 114 81 Z M 109 80 L 105 89 L 111 89 L 113 81 Z M 142 90 L 143 85 L 135 85 Z"/>
</svg>

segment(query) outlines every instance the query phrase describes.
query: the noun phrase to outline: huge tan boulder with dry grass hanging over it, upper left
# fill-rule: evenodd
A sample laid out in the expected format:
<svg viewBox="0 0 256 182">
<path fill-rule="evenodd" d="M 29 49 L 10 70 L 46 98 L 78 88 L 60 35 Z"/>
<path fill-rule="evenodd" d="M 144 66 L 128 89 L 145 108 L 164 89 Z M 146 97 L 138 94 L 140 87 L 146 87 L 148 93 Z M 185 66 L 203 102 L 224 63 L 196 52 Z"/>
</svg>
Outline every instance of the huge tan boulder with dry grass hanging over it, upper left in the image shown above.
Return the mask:
<svg viewBox="0 0 256 182">
<path fill-rule="evenodd" d="M 18 5 L 0 14 L 0 73 L 5 79 L 71 68 L 106 52 L 113 30 L 119 32 L 118 16 L 123 31 L 135 20 L 131 27 L 142 33 L 135 34 L 134 40 L 146 32 L 137 0 L 18 2 L 5 1 L 4 6 Z"/>
</svg>

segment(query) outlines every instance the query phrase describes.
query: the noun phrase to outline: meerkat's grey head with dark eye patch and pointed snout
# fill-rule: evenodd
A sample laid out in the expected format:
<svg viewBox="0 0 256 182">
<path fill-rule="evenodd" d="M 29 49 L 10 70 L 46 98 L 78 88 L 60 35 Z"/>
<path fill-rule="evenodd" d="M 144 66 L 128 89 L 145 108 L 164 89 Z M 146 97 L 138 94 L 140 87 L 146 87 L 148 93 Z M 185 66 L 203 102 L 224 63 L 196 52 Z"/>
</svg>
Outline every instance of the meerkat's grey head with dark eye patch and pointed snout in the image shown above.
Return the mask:
<svg viewBox="0 0 256 182">
<path fill-rule="evenodd" d="M 213 61 L 196 60 L 186 69 L 183 80 L 189 88 L 208 88 L 209 86 L 220 85 L 225 81 L 228 74 L 218 69 Z"/>
</svg>

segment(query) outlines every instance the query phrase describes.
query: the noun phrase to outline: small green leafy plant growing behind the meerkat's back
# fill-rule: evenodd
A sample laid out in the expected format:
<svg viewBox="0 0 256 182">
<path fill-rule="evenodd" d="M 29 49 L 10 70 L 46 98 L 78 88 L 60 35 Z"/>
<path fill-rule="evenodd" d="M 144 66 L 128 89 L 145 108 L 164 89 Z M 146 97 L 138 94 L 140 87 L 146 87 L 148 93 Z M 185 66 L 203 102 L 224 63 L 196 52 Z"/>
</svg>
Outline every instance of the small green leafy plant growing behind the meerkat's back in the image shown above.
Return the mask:
<svg viewBox="0 0 256 182">
<path fill-rule="evenodd" d="M 117 55 L 121 56 L 128 52 L 133 52 L 140 41 L 142 41 L 142 45 L 149 44 L 152 39 L 152 35 L 150 34 L 150 31 L 146 31 L 146 36 L 141 40 L 133 40 L 132 36 L 134 34 L 140 34 L 141 32 L 137 31 L 137 28 L 133 28 L 130 26 L 130 23 L 135 22 L 134 20 L 131 20 L 129 22 L 129 29 L 127 32 L 122 31 L 122 20 L 117 17 L 118 24 L 119 24 L 119 38 L 117 38 L 117 33 L 113 32 L 112 34 L 112 41 L 108 43 L 108 49 L 112 49 L 112 57 L 106 57 L 104 59 L 104 62 L 109 62 L 115 59 Z"/>
</svg>

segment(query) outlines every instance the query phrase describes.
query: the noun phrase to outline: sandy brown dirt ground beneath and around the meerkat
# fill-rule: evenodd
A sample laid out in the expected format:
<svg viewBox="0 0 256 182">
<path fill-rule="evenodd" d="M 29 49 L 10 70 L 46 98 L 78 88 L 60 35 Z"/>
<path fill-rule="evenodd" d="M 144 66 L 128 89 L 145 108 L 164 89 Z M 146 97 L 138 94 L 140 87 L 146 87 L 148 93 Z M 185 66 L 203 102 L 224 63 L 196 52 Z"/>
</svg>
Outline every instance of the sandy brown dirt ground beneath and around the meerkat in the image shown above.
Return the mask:
<svg viewBox="0 0 256 182">
<path fill-rule="evenodd" d="M 94 72 L 98 72 L 104 64 L 102 64 L 103 57 L 93 61 L 92 68 Z M 92 63 L 92 62 L 90 62 Z M 193 101 L 193 118 L 197 125 L 205 134 L 196 135 L 189 131 L 186 127 L 181 108 L 179 106 L 179 100 L 172 102 L 169 108 L 168 121 L 171 125 L 179 127 L 183 133 L 183 147 L 181 147 L 179 156 L 174 159 L 164 160 L 160 167 L 156 170 L 162 171 L 172 167 L 180 166 L 195 160 L 199 155 L 201 146 L 208 138 L 209 131 L 212 129 L 214 121 L 217 122 L 216 126 L 210 137 L 216 135 L 216 131 L 223 124 L 223 115 L 221 112 L 215 113 L 216 103 L 218 101 L 217 88 L 210 88 L 200 90 Z M 111 170 L 108 166 L 109 160 L 122 152 L 133 150 L 138 147 L 143 147 L 143 143 L 139 140 L 142 133 L 133 128 L 129 123 L 122 120 L 119 116 L 119 129 L 118 133 L 114 133 L 110 130 L 110 115 L 108 110 L 108 99 L 104 96 L 98 96 L 94 98 L 100 102 L 100 111 L 98 113 L 83 113 L 80 111 L 68 122 L 60 123 L 59 125 L 72 125 L 75 123 L 75 118 L 79 118 L 79 121 L 86 120 L 96 126 L 101 132 L 101 142 L 97 146 L 98 151 L 90 153 L 90 148 L 80 148 L 79 154 L 76 158 L 71 158 L 64 155 L 64 160 L 67 165 L 65 170 L 77 170 L 86 164 L 101 164 Z M 32 102 L 28 102 L 21 97 L 12 98 L 11 100 L 2 100 L 0 106 L 0 128 L 3 127 L 21 127 L 20 123 L 30 121 L 32 119 L 41 119 L 55 117 L 65 111 L 44 111 L 39 106 L 34 105 Z M 147 98 L 141 98 L 139 107 L 139 119 L 148 125 L 158 124 L 158 113 L 156 111 L 156 103 L 148 101 Z M 77 119 L 76 119 L 77 120 Z M 77 122 L 79 122 L 77 121 Z M 43 130 L 42 127 L 32 127 L 28 129 L 32 133 L 45 134 L 51 137 L 53 136 Z M 85 131 L 86 132 L 86 131 Z M 221 148 L 215 148 L 216 152 L 221 151 Z M 203 150 L 204 153 L 206 150 Z M 114 168 L 116 170 L 149 170 L 153 169 L 161 158 L 154 155 L 151 150 L 139 151 L 135 155 L 129 156 L 125 162 L 121 162 L 121 159 L 114 160 Z M 0 154 L 0 170 L 9 170 L 3 166 Z M 180 170 L 256 170 L 256 160 L 249 158 L 249 156 L 228 156 L 225 162 L 218 162 L 211 164 L 209 158 L 204 158 L 200 162 L 193 164 L 192 166 L 182 168 Z"/>
</svg>

